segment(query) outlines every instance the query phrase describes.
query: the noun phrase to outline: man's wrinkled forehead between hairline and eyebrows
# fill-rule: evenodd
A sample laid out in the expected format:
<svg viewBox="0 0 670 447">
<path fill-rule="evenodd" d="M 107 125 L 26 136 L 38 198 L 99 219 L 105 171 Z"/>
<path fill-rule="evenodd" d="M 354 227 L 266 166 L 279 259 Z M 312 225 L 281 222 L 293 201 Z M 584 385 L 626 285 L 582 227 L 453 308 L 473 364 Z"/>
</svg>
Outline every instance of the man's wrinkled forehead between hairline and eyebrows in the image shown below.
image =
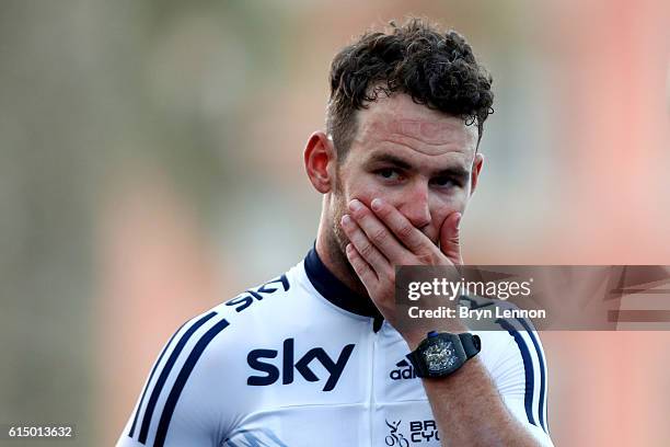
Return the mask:
<svg viewBox="0 0 670 447">
<path fill-rule="evenodd" d="M 460 117 L 416 104 L 406 94 L 394 94 L 358 112 L 358 131 L 351 149 L 358 147 L 369 152 L 395 148 L 417 157 L 459 152 L 471 158 L 476 142 L 475 125 L 466 126 Z"/>
</svg>

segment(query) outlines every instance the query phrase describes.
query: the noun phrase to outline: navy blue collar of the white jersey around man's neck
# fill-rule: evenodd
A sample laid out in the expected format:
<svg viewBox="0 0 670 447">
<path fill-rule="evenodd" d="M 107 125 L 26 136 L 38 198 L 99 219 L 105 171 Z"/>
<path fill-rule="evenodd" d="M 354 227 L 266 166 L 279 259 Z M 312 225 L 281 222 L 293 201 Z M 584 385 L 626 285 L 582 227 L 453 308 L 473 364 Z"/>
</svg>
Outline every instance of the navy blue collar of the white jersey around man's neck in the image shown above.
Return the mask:
<svg viewBox="0 0 670 447">
<path fill-rule="evenodd" d="M 333 305 L 358 316 L 374 318 L 381 322 L 382 316 L 370 298 L 356 294 L 337 279 L 321 261 L 314 248 L 304 259 L 304 271 L 316 291 Z"/>
</svg>

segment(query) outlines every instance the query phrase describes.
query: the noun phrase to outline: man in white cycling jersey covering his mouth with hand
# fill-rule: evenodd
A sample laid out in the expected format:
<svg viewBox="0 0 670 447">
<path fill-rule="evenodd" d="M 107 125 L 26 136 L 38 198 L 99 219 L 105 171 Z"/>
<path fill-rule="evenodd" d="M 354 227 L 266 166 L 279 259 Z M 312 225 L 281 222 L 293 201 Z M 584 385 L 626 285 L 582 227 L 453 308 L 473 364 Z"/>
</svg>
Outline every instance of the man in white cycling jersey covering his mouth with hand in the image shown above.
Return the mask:
<svg viewBox="0 0 670 447">
<path fill-rule="evenodd" d="M 396 265 L 462 264 L 492 103 L 454 32 L 412 20 L 344 48 L 327 133 L 304 150 L 323 194 L 314 249 L 177 330 L 118 445 L 551 445 L 542 347 L 525 322 L 478 337 L 454 319 L 401 325 L 393 296 Z"/>
</svg>

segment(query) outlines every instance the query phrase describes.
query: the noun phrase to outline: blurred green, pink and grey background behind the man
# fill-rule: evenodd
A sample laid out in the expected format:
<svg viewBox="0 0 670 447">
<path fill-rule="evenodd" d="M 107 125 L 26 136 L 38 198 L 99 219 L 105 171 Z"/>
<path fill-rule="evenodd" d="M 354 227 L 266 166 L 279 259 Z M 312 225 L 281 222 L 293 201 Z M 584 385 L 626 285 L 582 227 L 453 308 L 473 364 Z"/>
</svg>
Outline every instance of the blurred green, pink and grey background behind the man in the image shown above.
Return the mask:
<svg viewBox="0 0 670 447">
<path fill-rule="evenodd" d="M 361 3 L 0 1 L 0 423 L 112 445 L 183 321 L 301 260 L 330 61 L 391 19 L 495 79 L 467 263 L 670 264 L 668 2 Z M 670 445 L 670 332 L 542 336 L 556 445 Z"/>
</svg>

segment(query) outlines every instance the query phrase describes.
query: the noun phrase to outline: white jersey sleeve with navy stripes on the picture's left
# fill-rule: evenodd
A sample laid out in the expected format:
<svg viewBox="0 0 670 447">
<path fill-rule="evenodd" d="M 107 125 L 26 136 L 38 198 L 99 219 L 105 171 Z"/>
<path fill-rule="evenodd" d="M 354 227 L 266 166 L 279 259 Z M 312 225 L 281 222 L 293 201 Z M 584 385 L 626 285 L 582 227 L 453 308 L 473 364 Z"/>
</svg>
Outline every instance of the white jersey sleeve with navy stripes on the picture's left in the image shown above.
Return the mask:
<svg viewBox="0 0 670 447">
<path fill-rule="evenodd" d="M 220 445 L 234 414 L 219 341 L 229 322 L 217 311 L 180 328 L 155 360 L 117 447 Z"/>
</svg>

